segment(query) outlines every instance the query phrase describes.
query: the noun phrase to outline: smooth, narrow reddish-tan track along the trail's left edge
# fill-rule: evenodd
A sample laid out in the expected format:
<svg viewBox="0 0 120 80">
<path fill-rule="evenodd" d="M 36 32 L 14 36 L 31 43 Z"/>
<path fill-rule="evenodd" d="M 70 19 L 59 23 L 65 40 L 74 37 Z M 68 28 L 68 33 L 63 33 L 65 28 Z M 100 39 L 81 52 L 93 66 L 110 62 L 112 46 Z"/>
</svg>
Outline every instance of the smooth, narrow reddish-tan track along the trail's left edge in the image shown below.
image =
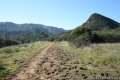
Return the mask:
<svg viewBox="0 0 120 80">
<path fill-rule="evenodd" d="M 37 68 L 37 65 L 43 57 L 42 55 L 45 53 L 45 51 L 51 46 L 52 44 L 49 44 L 47 48 L 45 48 L 40 54 L 36 55 L 34 58 L 32 58 L 27 65 L 24 66 L 24 68 L 16 74 L 14 77 L 12 77 L 11 80 L 26 80 L 30 75 L 35 73 L 35 69 Z"/>
</svg>

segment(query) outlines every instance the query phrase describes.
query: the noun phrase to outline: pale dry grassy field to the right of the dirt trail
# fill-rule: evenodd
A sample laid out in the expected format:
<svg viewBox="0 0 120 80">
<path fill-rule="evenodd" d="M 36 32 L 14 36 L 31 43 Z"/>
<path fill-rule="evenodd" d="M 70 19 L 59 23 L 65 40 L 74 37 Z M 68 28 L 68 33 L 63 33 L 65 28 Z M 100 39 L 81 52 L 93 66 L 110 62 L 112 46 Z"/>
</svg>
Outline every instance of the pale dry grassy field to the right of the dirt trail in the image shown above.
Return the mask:
<svg viewBox="0 0 120 80">
<path fill-rule="evenodd" d="M 120 43 L 92 44 L 77 48 L 68 42 L 62 47 L 79 60 L 86 76 L 120 76 Z"/>
</svg>

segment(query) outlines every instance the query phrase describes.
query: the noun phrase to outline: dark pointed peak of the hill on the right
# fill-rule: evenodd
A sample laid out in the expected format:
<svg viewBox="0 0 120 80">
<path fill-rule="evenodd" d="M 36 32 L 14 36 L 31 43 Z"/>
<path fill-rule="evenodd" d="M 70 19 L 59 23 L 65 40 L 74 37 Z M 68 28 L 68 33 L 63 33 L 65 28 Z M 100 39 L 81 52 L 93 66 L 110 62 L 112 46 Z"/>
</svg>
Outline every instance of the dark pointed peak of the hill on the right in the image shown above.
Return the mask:
<svg viewBox="0 0 120 80">
<path fill-rule="evenodd" d="M 101 14 L 94 13 L 80 27 L 86 27 L 92 30 L 114 29 L 119 27 L 119 23 Z"/>
</svg>

